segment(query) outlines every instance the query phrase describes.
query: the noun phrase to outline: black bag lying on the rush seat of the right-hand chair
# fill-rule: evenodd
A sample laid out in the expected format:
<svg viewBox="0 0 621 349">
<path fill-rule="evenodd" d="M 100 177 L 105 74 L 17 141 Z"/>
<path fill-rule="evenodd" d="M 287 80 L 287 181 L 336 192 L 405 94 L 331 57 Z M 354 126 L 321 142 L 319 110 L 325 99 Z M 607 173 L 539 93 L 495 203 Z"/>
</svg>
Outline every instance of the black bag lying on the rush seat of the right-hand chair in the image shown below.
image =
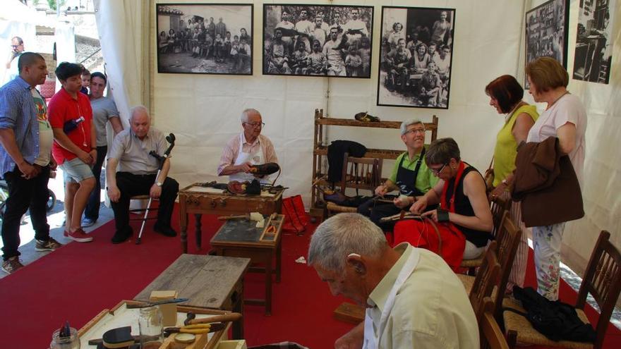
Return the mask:
<svg viewBox="0 0 621 349">
<path fill-rule="evenodd" d="M 584 324 L 571 305 L 560 300 L 548 300 L 531 287 L 513 286 L 513 296 L 521 302 L 526 314 L 506 307 L 504 310 L 526 317 L 533 328 L 550 341 L 595 342 L 593 327 Z"/>
</svg>

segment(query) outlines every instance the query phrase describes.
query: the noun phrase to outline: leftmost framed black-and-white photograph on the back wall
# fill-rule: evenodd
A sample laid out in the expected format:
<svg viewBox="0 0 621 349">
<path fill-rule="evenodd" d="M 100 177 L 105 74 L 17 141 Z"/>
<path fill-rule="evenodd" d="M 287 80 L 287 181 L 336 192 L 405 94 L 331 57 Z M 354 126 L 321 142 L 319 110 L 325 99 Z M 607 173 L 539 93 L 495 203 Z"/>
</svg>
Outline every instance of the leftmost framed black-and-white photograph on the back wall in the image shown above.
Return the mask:
<svg viewBox="0 0 621 349">
<path fill-rule="evenodd" d="M 156 4 L 157 72 L 252 75 L 252 4 Z"/>
</svg>

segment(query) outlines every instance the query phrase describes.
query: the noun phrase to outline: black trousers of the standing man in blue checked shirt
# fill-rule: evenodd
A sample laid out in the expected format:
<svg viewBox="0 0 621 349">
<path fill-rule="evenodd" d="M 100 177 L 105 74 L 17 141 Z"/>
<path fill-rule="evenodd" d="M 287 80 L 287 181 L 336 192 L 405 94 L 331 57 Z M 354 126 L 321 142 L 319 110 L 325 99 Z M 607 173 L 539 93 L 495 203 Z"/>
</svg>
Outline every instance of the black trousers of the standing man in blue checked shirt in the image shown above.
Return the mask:
<svg viewBox="0 0 621 349">
<path fill-rule="evenodd" d="M 25 179 L 22 172 L 15 166 L 13 171 L 4 173 L 8 185 L 8 199 L 5 202 L 4 219 L 2 220 L 2 256 L 4 260 L 19 256 L 19 228 L 23 214 L 30 209 L 32 228 L 35 228 L 35 239 L 49 240 L 47 224 L 47 182 L 49 166 L 42 167 L 41 173 L 35 178 Z"/>
</svg>

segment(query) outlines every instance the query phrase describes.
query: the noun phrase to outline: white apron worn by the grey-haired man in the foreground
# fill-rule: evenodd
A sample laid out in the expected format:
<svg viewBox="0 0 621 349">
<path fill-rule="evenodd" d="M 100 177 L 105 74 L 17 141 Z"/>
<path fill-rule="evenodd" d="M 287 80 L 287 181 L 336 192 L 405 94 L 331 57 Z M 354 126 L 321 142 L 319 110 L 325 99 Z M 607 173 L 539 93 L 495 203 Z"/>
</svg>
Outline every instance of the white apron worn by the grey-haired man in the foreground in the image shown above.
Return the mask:
<svg viewBox="0 0 621 349">
<path fill-rule="evenodd" d="M 390 293 L 388 293 L 388 298 L 386 298 L 386 304 L 384 306 L 384 311 L 382 311 L 382 316 L 380 317 L 380 324 L 378 328 L 378 336 L 375 336 L 375 331 L 373 331 L 373 319 L 370 316 L 371 308 L 367 308 L 366 316 L 364 319 L 364 343 L 363 349 L 378 349 L 380 348 L 380 337 L 386 328 L 386 323 L 388 322 L 388 315 L 392 311 L 392 307 L 394 306 L 394 297 L 397 295 L 397 292 L 403 286 L 407 278 L 409 278 L 410 274 L 414 272 L 416 269 L 416 265 L 418 264 L 418 251 L 416 248 L 412 250 L 410 257 L 406 260 L 403 268 L 399 271 L 399 275 L 397 276 L 397 280 L 394 281 L 394 285 L 390 289 Z"/>
</svg>

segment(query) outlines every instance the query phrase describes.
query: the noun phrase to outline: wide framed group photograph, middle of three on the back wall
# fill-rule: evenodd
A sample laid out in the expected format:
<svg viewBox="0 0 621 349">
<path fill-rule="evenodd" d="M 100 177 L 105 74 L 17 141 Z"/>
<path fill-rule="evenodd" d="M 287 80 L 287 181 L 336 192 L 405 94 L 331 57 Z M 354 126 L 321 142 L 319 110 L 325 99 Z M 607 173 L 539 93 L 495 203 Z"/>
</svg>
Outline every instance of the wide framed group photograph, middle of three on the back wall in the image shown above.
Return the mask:
<svg viewBox="0 0 621 349">
<path fill-rule="evenodd" d="M 373 6 L 263 5 L 263 74 L 370 78 Z"/>
</svg>

